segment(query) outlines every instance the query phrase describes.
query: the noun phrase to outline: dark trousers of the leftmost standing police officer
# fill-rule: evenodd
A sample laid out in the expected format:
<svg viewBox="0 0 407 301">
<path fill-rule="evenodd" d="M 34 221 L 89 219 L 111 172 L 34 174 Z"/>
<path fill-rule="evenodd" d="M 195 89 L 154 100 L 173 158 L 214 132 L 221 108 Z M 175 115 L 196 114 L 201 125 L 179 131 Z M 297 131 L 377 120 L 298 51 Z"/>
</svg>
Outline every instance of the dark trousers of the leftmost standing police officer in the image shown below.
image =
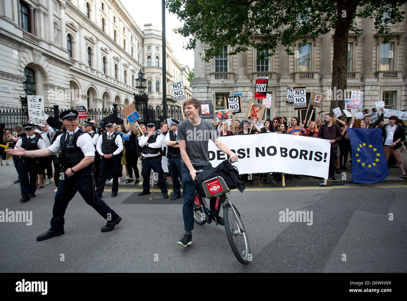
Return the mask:
<svg viewBox="0 0 407 301">
<path fill-rule="evenodd" d="M 38 164 L 33 158 L 24 157 L 17 160 L 18 178 L 20 179 L 21 196 L 35 193 L 35 177 L 37 176 Z"/>
</svg>

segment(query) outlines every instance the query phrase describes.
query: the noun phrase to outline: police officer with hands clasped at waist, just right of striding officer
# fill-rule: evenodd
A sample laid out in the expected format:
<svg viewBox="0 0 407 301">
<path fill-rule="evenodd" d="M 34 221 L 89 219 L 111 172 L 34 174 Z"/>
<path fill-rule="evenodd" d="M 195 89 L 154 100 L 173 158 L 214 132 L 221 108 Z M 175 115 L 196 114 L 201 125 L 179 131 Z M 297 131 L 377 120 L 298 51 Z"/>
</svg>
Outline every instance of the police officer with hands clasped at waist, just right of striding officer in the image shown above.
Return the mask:
<svg viewBox="0 0 407 301">
<path fill-rule="evenodd" d="M 123 156 L 123 140 L 122 137 L 113 131 L 113 121 L 107 121 L 105 124 L 106 132 L 102 133 L 96 144 L 96 150 L 102 156 L 99 170 L 99 185 L 96 189 L 96 194 L 102 197 L 107 174 L 112 171 L 113 187 L 112 198 L 117 196 L 119 190 L 119 176 L 121 174 L 121 157 Z"/>
</svg>

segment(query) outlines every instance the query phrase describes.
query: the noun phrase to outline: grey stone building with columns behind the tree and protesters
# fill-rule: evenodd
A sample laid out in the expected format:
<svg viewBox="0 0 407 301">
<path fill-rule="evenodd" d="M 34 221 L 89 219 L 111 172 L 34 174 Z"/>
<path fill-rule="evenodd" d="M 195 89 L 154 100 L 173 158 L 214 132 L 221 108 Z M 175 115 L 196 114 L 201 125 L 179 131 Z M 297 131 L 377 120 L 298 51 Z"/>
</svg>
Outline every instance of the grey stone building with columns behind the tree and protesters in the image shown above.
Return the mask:
<svg viewBox="0 0 407 301">
<path fill-rule="evenodd" d="M 406 4 L 401 9 L 407 13 Z M 324 113 L 330 110 L 333 97 L 350 98 L 350 90 L 364 92 L 363 109 L 371 110 L 379 100 L 385 101 L 385 107 L 390 109 L 407 109 L 407 21 L 387 24 L 392 39 L 385 44 L 383 36 L 374 29 L 372 19 L 357 19 L 357 25 L 363 28 L 363 34 L 349 34 L 348 91 L 344 93 L 335 88 L 331 90 L 334 34 L 331 31 L 318 37 L 307 36 L 306 43 L 299 39 L 290 47 L 293 56 L 279 45 L 268 60 L 258 60 L 257 49 L 253 47 L 228 56 L 232 48 L 225 45 L 221 55 L 205 62 L 199 53 L 206 45 L 197 41 L 193 96 L 199 100 L 212 100 L 214 107 L 221 109 L 225 108 L 223 97 L 242 93 L 242 106 L 246 111 L 248 101 L 255 101 L 256 78 L 268 76 L 267 92 L 272 94 L 271 116 L 274 107 L 278 107 L 278 116 L 300 117 L 299 111 L 290 114 L 290 106 L 285 103 L 289 85 L 306 86 L 308 97 L 311 90 L 324 92 L 327 95 L 321 109 Z M 261 36 L 256 39 L 260 43 Z M 266 111 L 269 117 L 270 110 Z M 236 116 L 242 120 L 244 115 Z"/>
</svg>

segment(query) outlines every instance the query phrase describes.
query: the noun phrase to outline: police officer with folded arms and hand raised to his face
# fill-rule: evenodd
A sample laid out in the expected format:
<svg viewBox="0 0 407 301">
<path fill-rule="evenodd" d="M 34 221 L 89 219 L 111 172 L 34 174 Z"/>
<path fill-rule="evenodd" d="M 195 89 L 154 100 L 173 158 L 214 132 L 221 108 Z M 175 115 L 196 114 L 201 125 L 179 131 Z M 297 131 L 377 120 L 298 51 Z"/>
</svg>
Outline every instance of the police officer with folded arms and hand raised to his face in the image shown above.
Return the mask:
<svg viewBox="0 0 407 301">
<path fill-rule="evenodd" d="M 153 121 L 147 122 L 147 131 L 148 133 L 142 135 L 138 142 L 138 145 L 141 146 L 141 176 L 143 177 L 143 191 L 138 193 L 138 195 L 144 196 L 150 194 L 150 173 L 151 169 L 153 169 L 154 172 L 158 172 L 158 185 L 160 186 L 164 199 L 167 199 L 168 190 L 165 186 L 164 170 L 162 170 L 160 154 L 163 135 L 155 131 L 155 123 Z"/>
</svg>

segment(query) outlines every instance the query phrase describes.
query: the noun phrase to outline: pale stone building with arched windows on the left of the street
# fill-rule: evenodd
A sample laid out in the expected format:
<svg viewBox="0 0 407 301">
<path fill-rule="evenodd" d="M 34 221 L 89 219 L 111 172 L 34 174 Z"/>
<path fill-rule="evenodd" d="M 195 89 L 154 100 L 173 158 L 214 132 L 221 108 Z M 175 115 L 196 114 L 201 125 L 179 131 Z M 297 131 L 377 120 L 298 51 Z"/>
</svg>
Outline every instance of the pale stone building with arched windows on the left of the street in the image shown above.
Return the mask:
<svg viewBox="0 0 407 301">
<path fill-rule="evenodd" d="M 150 31 L 141 30 L 117 0 L 0 0 L 0 108 L 21 107 L 28 73 L 46 107 L 96 109 L 132 103 L 140 69 L 147 80 L 154 74 L 162 82 L 161 63 L 146 71 L 151 67 L 144 43 L 145 33 L 150 43 Z M 156 55 L 161 57 L 161 52 Z M 167 58 L 183 72 L 168 42 Z M 168 75 L 173 71 L 167 70 L 167 82 L 173 82 Z M 160 92 L 147 93 L 154 108 L 162 107 L 162 88 Z"/>
</svg>

